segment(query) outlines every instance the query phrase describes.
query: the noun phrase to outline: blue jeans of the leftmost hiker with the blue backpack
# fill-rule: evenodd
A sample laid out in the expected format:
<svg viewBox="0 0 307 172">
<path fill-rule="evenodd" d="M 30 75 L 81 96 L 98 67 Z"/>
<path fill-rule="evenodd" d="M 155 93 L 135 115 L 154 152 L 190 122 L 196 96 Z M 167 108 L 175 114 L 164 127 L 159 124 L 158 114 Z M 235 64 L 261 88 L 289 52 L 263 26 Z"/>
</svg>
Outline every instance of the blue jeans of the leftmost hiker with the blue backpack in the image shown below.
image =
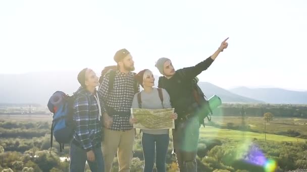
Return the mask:
<svg viewBox="0 0 307 172">
<path fill-rule="evenodd" d="M 86 150 L 80 146 L 75 145 L 74 143 L 70 144 L 70 172 L 83 172 L 85 168 L 85 162 L 87 161 L 88 166 L 92 172 L 101 172 L 105 171 L 105 163 L 103 152 L 101 152 L 101 144 L 93 147 L 93 152 L 95 154 L 94 161 L 87 161 Z"/>
</svg>

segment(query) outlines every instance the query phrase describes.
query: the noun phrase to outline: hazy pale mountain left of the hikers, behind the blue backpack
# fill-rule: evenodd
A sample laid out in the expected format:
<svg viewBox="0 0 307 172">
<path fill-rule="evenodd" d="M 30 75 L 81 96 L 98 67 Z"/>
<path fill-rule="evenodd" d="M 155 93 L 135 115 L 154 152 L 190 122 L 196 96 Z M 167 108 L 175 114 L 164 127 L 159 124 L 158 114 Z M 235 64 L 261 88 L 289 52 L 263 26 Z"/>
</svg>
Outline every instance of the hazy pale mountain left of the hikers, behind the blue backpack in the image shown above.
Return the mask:
<svg viewBox="0 0 307 172">
<path fill-rule="evenodd" d="M 70 71 L 0 74 L 0 103 L 46 105 L 57 90 L 67 94 L 77 90 L 77 74 Z"/>
</svg>

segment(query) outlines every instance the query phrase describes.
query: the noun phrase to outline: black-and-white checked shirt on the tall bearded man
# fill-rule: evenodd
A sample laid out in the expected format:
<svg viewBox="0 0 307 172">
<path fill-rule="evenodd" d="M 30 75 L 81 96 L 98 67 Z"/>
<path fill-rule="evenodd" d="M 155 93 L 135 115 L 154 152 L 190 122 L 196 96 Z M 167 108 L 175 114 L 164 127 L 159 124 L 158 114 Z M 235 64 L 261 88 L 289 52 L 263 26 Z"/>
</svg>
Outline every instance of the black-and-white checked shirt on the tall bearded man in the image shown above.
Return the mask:
<svg viewBox="0 0 307 172">
<path fill-rule="evenodd" d="M 116 71 L 114 78 L 113 89 L 109 92 L 109 80 L 110 73 L 107 73 L 101 85 L 98 89 L 99 98 L 101 100 L 102 113 L 107 112 L 110 117 L 113 118 L 113 124 L 111 130 L 125 131 L 133 128 L 133 125 L 129 123 L 130 115 L 120 115 L 120 113 L 130 114 L 132 101 L 134 97 L 134 73 L 128 74 L 122 73 L 119 70 Z M 139 91 L 139 86 L 137 88 Z M 114 114 L 110 114 L 108 109 L 115 111 Z"/>
</svg>

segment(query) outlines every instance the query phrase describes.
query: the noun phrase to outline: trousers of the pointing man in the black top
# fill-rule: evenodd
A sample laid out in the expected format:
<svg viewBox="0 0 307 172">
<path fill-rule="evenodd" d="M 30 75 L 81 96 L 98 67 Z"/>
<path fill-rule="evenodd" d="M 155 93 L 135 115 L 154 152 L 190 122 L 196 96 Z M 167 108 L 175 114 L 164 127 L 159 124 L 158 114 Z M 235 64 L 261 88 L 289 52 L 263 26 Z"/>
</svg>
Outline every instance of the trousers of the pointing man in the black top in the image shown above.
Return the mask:
<svg viewBox="0 0 307 172">
<path fill-rule="evenodd" d="M 179 171 L 196 172 L 196 153 L 200 127 L 198 117 L 178 120 L 176 129 L 173 129 L 173 146 Z"/>
</svg>

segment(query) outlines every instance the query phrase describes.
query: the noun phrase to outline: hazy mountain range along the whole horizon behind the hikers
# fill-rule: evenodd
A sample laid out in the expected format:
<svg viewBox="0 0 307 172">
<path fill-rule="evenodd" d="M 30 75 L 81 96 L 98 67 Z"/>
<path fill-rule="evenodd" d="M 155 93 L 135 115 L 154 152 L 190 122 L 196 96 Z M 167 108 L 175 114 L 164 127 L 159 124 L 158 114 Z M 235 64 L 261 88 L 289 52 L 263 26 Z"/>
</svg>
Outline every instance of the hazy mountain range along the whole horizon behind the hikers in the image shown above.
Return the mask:
<svg viewBox="0 0 307 172">
<path fill-rule="evenodd" d="M 44 71 L 24 74 L 0 74 L 0 104 L 46 105 L 55 91 L 73 94 L 78 87 L 77 71 Z M 156 86 L 158 85 L 158 76 Z M 198 82 L 210 98 L 218 95 L 224 103 L 307 104 L 307 92 L 283 89 L 249 89 L 246 87 L 225 90 L 210 82 Z"/>
</svg>

